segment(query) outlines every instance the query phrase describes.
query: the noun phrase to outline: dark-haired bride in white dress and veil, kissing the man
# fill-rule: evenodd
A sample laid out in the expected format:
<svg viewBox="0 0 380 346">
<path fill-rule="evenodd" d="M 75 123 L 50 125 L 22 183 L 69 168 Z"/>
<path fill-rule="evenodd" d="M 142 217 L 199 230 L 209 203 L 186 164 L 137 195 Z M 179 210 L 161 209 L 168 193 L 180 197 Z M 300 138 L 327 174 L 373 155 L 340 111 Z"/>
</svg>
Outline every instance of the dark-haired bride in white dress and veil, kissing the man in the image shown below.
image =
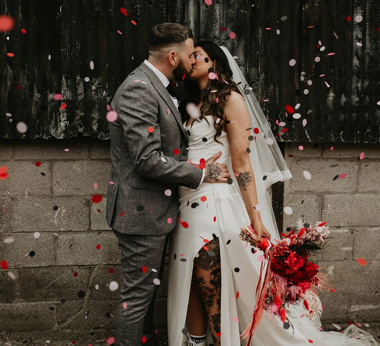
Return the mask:
<svg viewBox="0 0 380 346">
<path fill-rule="evenodd" d="M 228 49 L 202 41 L 194 56 L 190 94 L 180 105 L 189 161 L 202 168 L 220 150 L 218 161 L 234 174 L 228 183 L 197 190 L 179 186 L 179 222 L 170 234 L 169 346 L 245 346 L 239 335 L 254 310 L 262 254 L 239 239 L 239 228 L 251 224 L 259 239 L 280 239 L 266 188 L 291 174 Z M 292 327 L 265 312 L 251 345 L 379 345 L 355 325 L 343 333 L 320 331 L 318 314 L 311 320 L 300 304 L 288 310 Z"/>
</svg>

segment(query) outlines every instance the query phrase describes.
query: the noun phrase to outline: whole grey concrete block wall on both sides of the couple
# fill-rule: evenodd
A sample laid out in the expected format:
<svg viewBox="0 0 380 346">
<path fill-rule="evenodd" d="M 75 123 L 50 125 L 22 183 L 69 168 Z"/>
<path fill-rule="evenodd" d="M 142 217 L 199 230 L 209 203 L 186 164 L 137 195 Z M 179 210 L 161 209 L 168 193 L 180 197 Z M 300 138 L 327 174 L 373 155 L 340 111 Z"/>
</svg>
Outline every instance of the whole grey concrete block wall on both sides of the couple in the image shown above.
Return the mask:
<svg viewBox="0 0 380 346">
<path fill-rule="evenodd" d="M 284 206 L 293 214 L 284 215 L 284 227 L 298 217 L 331 226 L 333 239 L 319 264 L 336 292 L 322 295 L 323 321 L 379 323 L 380 146 L 298 145 L 285 144 L 294 178 L 285 182 Z M 104 345 L 114 335 L 118 299 L 108 286 L 122 282 L 117 239 L 105 221 L 109 141 L 0 140 L 0 166 L 9 173 L 0 180 L 0 260 L 8 263 L 0 269 L 0 340 L 73 333 L 69 340 L 96 345 L 98 338 Z M 333 180 L 341 173 L 346 177 Z M 101 203 L 92 203 L 94 194 L 103 196 Z M 360 266 L 358 257 L 368 264 Z M 156 301 L 161 340 L 165 271 Z"/>
</svg>

